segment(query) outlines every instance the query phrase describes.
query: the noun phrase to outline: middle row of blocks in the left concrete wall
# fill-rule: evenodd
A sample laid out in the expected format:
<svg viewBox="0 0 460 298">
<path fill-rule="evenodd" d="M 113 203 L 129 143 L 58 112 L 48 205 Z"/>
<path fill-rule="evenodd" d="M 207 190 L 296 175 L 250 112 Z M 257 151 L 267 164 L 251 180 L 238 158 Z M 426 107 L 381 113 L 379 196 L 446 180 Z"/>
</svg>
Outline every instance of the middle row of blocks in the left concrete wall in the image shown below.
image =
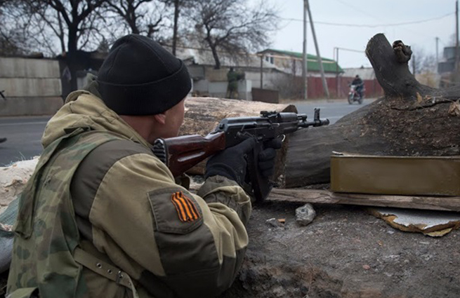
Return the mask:
<svg viewBox="0 0 460 298">
<path fill-rule="evenodd" d="M 60 79 L 0 78 L 0 90 L 8 97 L 60 96 Z"/>
</svg>

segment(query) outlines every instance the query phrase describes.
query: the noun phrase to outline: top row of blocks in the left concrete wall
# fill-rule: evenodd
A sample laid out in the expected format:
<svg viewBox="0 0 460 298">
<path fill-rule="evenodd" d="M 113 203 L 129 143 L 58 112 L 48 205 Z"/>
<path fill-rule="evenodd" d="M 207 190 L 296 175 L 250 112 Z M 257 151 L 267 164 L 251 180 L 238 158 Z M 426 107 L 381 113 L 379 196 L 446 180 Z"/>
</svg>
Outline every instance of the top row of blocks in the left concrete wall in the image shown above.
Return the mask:
<svg viewBox="0 0 460 298">
<path fill-rule="evenodd" d="M 60 78 L 59 62 L 0 57 L 0 78 Z"/>
</svg>

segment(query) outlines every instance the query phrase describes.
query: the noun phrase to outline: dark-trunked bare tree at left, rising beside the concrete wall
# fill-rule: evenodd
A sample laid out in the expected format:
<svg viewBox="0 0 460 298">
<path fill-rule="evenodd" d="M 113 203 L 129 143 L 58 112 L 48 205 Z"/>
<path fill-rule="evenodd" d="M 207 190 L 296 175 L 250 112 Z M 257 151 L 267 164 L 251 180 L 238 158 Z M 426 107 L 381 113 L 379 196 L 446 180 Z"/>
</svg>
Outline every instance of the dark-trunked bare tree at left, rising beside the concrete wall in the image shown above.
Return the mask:
<svg viewBox="0 0 460 298">
<path fill-rule="evenodd" d="M 36 50 L 65 53 L 71 74 L 71 87 L 77 88 L 77 55 L 79 49 L 98 45 L 102 16 L 98 9 L 107 0 L 8 0 L 10 22 L 20 28 Z"/>
</svg>

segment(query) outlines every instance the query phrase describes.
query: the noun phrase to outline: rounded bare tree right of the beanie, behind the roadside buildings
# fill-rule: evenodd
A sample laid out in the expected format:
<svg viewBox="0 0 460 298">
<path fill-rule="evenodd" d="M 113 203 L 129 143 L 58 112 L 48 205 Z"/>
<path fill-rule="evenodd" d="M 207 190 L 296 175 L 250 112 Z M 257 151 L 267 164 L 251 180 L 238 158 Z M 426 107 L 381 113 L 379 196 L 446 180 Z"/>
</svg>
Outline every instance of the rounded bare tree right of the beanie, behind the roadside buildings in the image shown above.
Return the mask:
<svg viewBox="0 0 460 298">
<path fill-rule="evenodd" d="M 277 27 L 277 11 L 261 1 L 250 8 L 247 0 L 193 0 L 192 39 L 211 49 L 215 68 L 221 68 L 219 51 L 235 56 L 270 43 L 268 33 Z"/>
</svg>

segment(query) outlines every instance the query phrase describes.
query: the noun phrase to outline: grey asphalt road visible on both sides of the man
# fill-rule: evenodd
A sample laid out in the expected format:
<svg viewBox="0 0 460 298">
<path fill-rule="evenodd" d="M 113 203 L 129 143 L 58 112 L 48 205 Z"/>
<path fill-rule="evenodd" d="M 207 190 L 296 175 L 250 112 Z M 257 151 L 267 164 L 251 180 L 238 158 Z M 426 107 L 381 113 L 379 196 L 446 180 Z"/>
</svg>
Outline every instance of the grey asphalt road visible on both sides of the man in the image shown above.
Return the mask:
<svg viewBox="0 0 460 298">
<path fill-rule="evenodd" d="M 348 104 L 343 101 L 315 100 L 309 102 L 292 102 L 298 112 L 307 114 L 309 120 L 313 120 L 313 109 L 321 109 L 321 118 L 329 118 L 331 123 L 336 122 L 342 116 L 359 109 L 372 100 L 364 100 L 363 104 Z M 9 165 L 15 161 L 30 159 L 41 154 L 41 135 L 44 132 L 49 116 L 39 117 L 0 117 L 0 137 L 8 140 L 0 143 L 0 167 Z"/>
</svg>

